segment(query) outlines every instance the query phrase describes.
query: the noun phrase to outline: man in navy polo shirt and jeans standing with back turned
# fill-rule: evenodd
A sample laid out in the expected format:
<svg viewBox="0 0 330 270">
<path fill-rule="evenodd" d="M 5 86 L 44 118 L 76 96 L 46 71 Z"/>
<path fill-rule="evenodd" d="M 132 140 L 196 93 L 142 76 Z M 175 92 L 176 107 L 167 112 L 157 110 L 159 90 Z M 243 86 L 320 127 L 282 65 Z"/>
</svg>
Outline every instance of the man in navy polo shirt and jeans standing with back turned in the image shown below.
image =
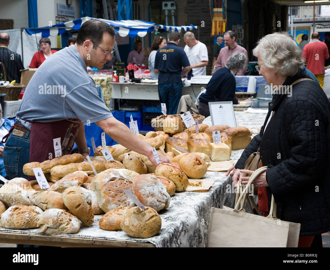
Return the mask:
<svg viewBox="0 0 330 270">
<path fill-rule="evenodd" d="M 172 32 L 167 46 L 159 49 L 155 57 L 154 71 L 158 76 L 160 103 L 166 103 L 167 114 L 176 114 L 182 96 L 181 78 L 187 77 L 190 63 L 186 53 L 178 47 L 180 34 Z M 183 67 L 183 70 L 182 70 Z"/>
</svg>

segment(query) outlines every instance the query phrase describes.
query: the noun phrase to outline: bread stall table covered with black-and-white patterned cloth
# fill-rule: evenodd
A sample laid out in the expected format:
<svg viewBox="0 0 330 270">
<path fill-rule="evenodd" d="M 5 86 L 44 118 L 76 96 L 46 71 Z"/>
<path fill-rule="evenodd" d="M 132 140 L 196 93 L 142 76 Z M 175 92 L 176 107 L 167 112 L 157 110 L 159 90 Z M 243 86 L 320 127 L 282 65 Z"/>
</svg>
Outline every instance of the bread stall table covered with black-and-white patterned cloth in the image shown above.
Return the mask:
<svg viewBox="0 0 330 270">
<path fill-rule="evenodd" d="M 237 124 L 242 126 L 261 126 L 265 119 L 264 114 L 235 112 L 235 115 Z M 211 118 L 206 118 L 204 123 L 211 125 Z M 243 151 L 232 151 L 234 163 Z M 225 172 L 207 172 L 203 179 L 215 181 L 210 190 L 175 193 L 169 208 L 159 212 L 162 219 L 160 232 L 148 239 L 133 238 L 123 231 L 103 230 L 98 224 L 102 215 L 95 215 L 92 226 L 81 225 L 75 234 L 52 236 L 41 233 L 38 228 L 0 228 L 0 242 L 61 247 L 205 247 L 211 207 L 225 205 L 233 208 L 235 193 L 231 177 L 226 177 Z"/>
</svg>

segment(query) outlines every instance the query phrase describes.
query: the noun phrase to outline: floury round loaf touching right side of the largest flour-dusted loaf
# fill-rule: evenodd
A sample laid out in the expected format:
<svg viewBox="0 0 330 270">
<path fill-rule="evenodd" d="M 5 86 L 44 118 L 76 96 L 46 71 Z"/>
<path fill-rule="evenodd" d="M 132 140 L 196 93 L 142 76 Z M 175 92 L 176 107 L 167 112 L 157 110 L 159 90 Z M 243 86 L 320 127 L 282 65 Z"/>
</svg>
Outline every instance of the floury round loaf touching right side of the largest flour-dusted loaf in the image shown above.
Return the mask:
<svg viewBox="0 0 330 270">
<path fill-rule="evenodd" d="M 170 195 L 155 176 L 142 174 L 135 177 L 132 188 L 133 194 L 144 206 L 149 206 L 157 212 L 170 204 Z"/>
</svg>

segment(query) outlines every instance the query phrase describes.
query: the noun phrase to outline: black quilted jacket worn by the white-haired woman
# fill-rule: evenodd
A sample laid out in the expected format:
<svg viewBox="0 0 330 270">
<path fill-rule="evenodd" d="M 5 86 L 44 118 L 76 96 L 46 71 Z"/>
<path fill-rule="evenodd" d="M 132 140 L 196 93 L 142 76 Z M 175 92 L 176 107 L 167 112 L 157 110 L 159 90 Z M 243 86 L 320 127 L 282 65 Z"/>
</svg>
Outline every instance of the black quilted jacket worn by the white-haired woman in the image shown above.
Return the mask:
<svg viewBox="0 0 330 270">
<path fill-rule="evenodd" d="M 303 71 L 287 77 L 283 85 Z M 267 195 L 274 195 L 278 218 L 301 223 L 300 235 L 330 231 L 330 103 L 314 81 L 292 86 L 292 96 L 273 95 L 275 111 L 263 134 L 255 136 L 235 167 L 244 168 L 248 156 L 260 147 L 266 173 Z"/>
</svg>

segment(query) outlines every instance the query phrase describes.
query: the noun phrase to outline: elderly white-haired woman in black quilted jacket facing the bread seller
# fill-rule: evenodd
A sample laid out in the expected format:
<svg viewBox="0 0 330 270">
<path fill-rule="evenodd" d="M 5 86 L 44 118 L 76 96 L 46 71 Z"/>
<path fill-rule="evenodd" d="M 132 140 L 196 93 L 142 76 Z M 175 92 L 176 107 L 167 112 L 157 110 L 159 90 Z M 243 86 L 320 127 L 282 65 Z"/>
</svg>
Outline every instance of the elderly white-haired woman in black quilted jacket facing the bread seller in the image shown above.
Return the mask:
<svg viewBox="0 0 330 270">
<path fill-rule="evenodd" d="M 229 168 L 234 186 L 247 184 L 244 170 L 259 149 L 266 172 L 259 187 L 259 211 L 268 212 L 271 194 L 277 218 L 301 223 L 299 247 L 322 247 L 330 231 L 330 104 L 322 88 L 302 70 L 301 50 L 287 33 L 263 37 L 253 50 L 256 66 L 274 90 L 260 134 Z M 286 89 L 286 90 L 285 90 Z"/>
</svg>

